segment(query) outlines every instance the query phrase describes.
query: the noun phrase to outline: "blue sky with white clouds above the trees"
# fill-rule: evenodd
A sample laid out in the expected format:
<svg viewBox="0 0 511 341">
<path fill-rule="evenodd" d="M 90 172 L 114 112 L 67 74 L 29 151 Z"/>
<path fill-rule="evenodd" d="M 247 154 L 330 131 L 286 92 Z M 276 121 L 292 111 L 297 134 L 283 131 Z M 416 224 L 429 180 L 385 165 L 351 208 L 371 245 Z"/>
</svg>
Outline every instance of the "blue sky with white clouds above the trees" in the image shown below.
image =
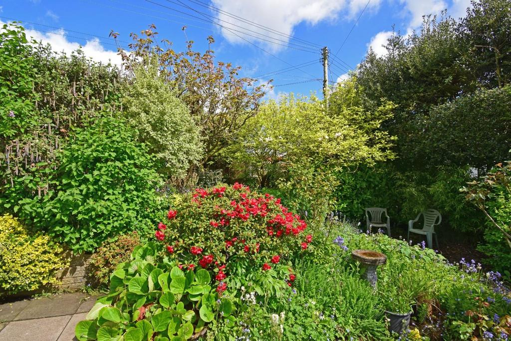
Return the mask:
<svg viewBox="0 0 511 341">
<path fill-rule="evenodd" d="M 181 27 L 186 25 L 195 50 L 204 51 L 206 37 L 213 35 L 218 60 L 242 66 L 243 76 L 261 76 L 261 82 L 274 79 L 271 98 L 288 92 L 320 95 L 321 82 L 313 80 L 322 78 L 320 48 L 328 46 L 335 55 L 352 28 L 333 61 L 333 81 L 356 67 L 369 46 L 384 54 L 381 44 L 392 25 L 410 32 L 420 26 L 424 14 L 447 9 L 459 17 L 467 6 L 469 0 L 1 0 L 0 21 L 25 21 L 30 35 L 50 42 L 57 51 L 69 52 L 82 45 L 90 57 L 114 62 L 119 59 L 108 39 L 110 30 L 129 41 L 130 32 L 155 24 L 161 38 L 183 51 L 186 38 Z M 308 62 L 300 69 L 267 75 Z"/>
</svg>

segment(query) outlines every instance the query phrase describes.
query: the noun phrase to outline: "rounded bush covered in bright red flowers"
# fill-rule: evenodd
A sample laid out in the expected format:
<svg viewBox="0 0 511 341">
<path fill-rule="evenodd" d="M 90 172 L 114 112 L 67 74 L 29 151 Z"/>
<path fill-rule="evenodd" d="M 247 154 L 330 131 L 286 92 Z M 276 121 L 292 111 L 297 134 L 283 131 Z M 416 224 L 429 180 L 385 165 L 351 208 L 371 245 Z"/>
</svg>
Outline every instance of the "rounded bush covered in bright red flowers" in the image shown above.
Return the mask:
<svg viewBox="0 0 511 341">
<path fill-rule="evenodd" d="M 170 208 L 155 237 L 180 268 L 214 271 L 220 293 L 231 285 L 258 282 L 261 276 L 292 286 L 290 261 L 309 252 L 313 238 L 307 223 L 280 199 L 238 183 L 188 194 Z M 265 289 L 278 286 L 275 282 Z"/>
</svg>

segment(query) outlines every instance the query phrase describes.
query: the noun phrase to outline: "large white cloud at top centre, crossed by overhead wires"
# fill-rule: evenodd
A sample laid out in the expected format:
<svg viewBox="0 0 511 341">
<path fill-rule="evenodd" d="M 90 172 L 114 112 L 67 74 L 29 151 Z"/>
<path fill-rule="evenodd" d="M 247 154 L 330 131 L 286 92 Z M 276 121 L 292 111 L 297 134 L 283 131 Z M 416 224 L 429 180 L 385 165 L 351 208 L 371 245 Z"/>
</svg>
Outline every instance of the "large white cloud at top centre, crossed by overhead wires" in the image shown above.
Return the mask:
<svg viewBox="0 0 511 341">
<path fill-rule="evenodd" d="M 259 1 L 240 1 L 240 0 L 212 0 L 213 5 L 224 12 L 237 15 L 242 18 L 247 18 L 250 21 L 257 22 L 261 26 L 271 28 L 272 30 L 282 32 L 286 35 L 292 35 L 293 29 L 301 22 L 306 22 L 310 25 L 316 25 L 322 20 L 335 20 L 338 18 L 342 11 L 346 11 L 351 19 L 353 15 L 361 11 L 367 4 L 367 0 L 259 0 Z M 371 1 L 368 7 L 376 8 L 382 0 Z M 217 15 L 217 22 L 220 25 L 226 26 L 230 29 L 240 30 L 238 27 L 231 26 L 234 24 L 238 26 L 247 27 L 237 19 L 230 17 L 225 13 L 215 13 Z M 223 20 L 223 21 L 222 21 Z M 229 24 L 228 24 L 229 23 Z M 263 28 L 250 26 L 250 30 L 254 32 L 247 32 L 251 35 L 260 34 L 263 38 L 271 40 L 271 38 L 280 39 L 283 41 L 276 41 L 285 44 L 289 41 L 287 37 L 278 35 L 276 33 L 268 32 Z M 225 28 L 221 29 L 222 35 L 229 42 L 244 43 L 240 37 L 233 36 L 231 32 Z M 256 40 L 253 37 L 243 35 L 239 32 L 236 34 L 242 36 L 249 41 Z M 293 41 L 299 44 L 299 42 Z M 266 43 L 269 49 L 275 51 L 282 47 Z"/>
</svg>

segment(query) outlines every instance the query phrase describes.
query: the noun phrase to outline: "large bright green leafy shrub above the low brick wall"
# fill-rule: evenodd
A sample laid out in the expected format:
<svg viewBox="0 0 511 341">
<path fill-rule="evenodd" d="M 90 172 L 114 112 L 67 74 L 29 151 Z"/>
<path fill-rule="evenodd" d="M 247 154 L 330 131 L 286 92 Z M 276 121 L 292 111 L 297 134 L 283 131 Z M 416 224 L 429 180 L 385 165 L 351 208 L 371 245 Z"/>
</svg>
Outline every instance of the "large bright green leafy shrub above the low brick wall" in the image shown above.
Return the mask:
<svg viewBox="0 0 511 341">
<path fill-rule="evenodd" d="M 58 158 L 60 167 L 48 181 L 54 190 L 18 201 L 21 217 L 76 252 L 92 252 L 129 231 L 150 233 L 159 179 L 121 120 L 104 117 L 77 129 Z"/>
</svg>

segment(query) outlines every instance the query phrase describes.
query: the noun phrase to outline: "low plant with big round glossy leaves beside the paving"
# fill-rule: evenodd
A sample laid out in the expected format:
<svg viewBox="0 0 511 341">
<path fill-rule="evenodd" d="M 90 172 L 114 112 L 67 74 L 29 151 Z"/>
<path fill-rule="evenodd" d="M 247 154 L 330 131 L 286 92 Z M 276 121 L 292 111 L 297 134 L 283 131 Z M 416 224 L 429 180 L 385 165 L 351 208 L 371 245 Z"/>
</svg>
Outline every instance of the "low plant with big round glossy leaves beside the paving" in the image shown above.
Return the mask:
<svg viewBox="0 0 511 341">
<path fill-rule="evenodd" d="M 135 247 L 131 261 L 113 272 L 110 293 L 76 325 L 76 337 L 185 340 L 214 320 L 233 319 L 233 302 L 212 289 L 210 272 L 183 272 L 164 255 L 154 242 Z"/>
</svg>

